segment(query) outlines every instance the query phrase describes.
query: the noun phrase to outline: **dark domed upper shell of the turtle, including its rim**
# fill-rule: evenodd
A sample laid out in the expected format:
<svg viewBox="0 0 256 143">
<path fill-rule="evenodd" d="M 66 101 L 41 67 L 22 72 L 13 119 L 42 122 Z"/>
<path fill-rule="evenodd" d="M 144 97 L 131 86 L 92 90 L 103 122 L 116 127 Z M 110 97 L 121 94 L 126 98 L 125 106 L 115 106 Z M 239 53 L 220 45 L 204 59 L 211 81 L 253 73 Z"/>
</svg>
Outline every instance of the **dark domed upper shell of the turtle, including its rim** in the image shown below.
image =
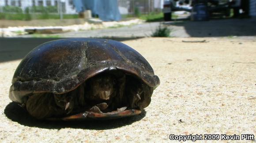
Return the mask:
<svg viewBox="0 0 256 143">
<path fill-rule="evenodd" d="M 19 104 L 32 93 L 67 93 L 101 72 L 122 70 L 155 89 L 159 78 L 131 47 L 108 39 L 60 39 L 41 44 L 23 58 L 9 98 Z"/>
</svg>

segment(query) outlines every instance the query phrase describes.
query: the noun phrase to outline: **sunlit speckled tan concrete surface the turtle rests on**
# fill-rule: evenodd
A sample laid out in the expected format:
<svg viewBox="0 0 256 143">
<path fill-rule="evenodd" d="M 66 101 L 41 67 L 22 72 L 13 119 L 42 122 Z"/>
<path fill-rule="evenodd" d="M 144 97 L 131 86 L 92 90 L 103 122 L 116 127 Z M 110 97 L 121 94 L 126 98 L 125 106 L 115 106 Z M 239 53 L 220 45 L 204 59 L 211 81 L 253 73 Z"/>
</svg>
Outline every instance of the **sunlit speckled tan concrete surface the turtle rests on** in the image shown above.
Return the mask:
<svg viewBox="0 0 256 143">
<path fill-rule="evenodd" d="M 184 43 L 203 40 L 207 43 Z M 0 63 L 0 142 L 159 142 L 169 134 L 256 135 L 256 38 L 124 41 L 159 76 L 139 116 L 111 121 L 37 121 L 8 98 L 18 61 Z"/>
</svg>

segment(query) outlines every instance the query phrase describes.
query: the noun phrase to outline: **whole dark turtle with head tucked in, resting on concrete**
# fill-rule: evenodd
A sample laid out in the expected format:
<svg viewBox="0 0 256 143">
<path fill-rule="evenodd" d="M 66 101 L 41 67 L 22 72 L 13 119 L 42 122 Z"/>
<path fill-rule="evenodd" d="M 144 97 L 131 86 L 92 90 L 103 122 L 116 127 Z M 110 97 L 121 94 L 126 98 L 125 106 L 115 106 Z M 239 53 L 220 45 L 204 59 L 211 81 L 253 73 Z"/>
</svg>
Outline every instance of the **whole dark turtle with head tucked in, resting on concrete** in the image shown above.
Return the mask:
<svg viewBox="0 0 256 143">
<path fill-rule="evenodd" d="M 71 38 L 43 43 L 19 63 L 9 98 L 37 119 L 114 119 L 140 114 L 160 84 L 124 43 Z"/>
</svg>

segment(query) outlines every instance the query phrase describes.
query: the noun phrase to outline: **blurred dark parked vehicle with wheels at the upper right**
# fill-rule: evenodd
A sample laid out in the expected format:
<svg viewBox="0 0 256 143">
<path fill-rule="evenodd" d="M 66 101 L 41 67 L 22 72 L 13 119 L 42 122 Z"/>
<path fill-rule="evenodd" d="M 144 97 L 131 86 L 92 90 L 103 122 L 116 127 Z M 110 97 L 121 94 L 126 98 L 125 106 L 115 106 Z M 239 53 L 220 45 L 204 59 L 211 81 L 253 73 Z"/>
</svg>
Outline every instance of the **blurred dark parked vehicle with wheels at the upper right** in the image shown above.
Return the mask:
<svg viewBox="0 0 256 143">
<path fill-rule="evenodd" d="M 165 0 L 163 5 L 164 20 L 172 20 L 173 11 L 188 11 L 191 13 L 191 20 L 205 21 L 213 16 L 230 16 L 233 9 L 234 17 L 241 14 L 240 11 L 248 13 L 246 6 L 248 0 Z M 245 3 L 245 4 L 244 4 Z"/>
</svg>

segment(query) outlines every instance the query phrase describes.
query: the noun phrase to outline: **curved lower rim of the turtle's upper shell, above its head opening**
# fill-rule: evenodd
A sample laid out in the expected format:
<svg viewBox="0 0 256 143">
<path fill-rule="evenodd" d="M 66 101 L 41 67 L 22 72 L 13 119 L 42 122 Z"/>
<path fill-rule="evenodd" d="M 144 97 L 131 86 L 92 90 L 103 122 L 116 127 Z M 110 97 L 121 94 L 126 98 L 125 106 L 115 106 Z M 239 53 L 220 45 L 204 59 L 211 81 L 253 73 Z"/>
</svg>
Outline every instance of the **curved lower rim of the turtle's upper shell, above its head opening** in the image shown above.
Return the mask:
<svg viewBox="0 0 256 143">
<path fill-rule="evenodd" d="M 101 64 L 106 68 L 99 66 Z M 60 81 L 53 79 L 41 79 L 40 81 L 32 80 L 20 82 L 19 80 L 16 80 L 10 87 L 9 98 L 15 102 L 23 104 L 25 102 L 24 97 L 33 93 L 67 93 L 76 89 L 87 79 L 102 72 L 112 70 L 121 70 L 127 74 L 135 75 L 148 86 L 153 87 L 153 89 L 160 85 L 160 79 L 157 75 L 151 75 L 149 73 L 143 72 L 139 70 L 138 67 L 130 66 L 128 64 L 124 65 L 118 63 L 98 63 L 98 66 L 91 67 L 91 70 L 83 69 L 77 75 L 66 77 Z"/>
</svg>

